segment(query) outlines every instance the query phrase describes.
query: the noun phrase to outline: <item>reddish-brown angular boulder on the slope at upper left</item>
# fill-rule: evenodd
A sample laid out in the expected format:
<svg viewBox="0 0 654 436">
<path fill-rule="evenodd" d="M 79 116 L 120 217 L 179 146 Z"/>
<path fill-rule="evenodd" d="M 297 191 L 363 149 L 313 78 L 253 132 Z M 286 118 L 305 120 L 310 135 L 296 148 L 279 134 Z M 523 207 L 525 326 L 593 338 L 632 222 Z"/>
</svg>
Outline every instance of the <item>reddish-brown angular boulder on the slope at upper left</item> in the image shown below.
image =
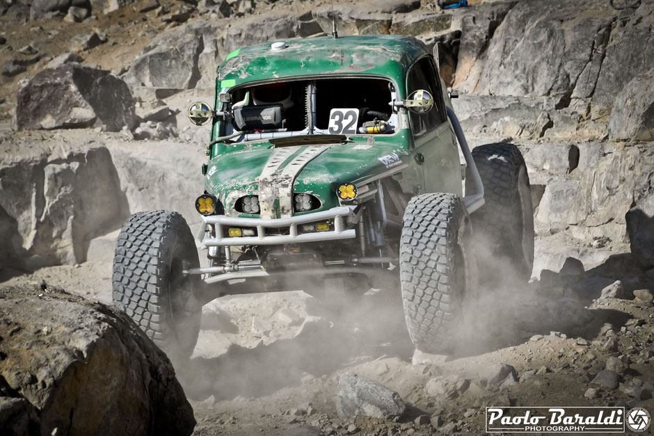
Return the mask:
<svg viewBox="0 0 654 436">
<path fill-rule="evenodd" d="M 134 99 L 111 72 L 66 63 L 36 74 L 18 92 L 18 130 L 100 127 L 132 129 Z"/>
</svg>

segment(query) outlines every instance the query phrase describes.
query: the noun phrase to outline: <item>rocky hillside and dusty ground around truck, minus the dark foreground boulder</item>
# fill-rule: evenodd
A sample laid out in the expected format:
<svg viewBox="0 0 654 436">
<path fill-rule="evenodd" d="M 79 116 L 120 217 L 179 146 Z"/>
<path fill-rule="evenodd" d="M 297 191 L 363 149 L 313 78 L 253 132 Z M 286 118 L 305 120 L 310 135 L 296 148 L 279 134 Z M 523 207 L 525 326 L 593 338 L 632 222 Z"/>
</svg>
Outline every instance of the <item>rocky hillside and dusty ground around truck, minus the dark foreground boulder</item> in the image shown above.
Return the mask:
<svg viewBox="0 0 654 436">
<path fill-rule="evenodd" d="M 129 213 L 199 222 L 209 133 L 185 111 L 212 102 L 216 65 L 242 45 L 329 34 L 333 10 L 341 35 L 438 42 L 469 142 L 520 146 L 534 279 L 484 289 L 488 313 L 469 345 L 440 359 L 414 355 L 393 293 L 337 308 L 298 290 L 216 300 L 176 368 L 194 432 L 482 433 L 485 405 L 652 412 L 654 1 L 469 3 L 0 0 L 0 305 L 45 304 L 41 286 L 76 296 L 47 294 L 54 302 L 111 302 Z M 12 356 L 4 330 L 0 352 Z M 18 366 L 5 355 L 0 397 L 43 420 L 45 403 L 7 379 Z M 0 423 L 19 417 L 16 401 L 0 406 Z M 18 420 L 29 426 L 27 409 Z"/>
</svg>

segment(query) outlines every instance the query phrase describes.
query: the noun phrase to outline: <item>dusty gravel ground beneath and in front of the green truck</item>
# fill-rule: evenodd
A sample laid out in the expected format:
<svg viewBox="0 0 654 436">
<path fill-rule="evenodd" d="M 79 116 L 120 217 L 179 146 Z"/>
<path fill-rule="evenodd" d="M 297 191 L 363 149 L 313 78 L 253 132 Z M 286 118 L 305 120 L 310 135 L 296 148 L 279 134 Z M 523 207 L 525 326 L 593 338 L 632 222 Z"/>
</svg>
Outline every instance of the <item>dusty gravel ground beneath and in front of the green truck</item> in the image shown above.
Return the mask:
<svg viewBox="0 0 654 436">
<path fill-rule="evenodd" d="M 45 282 L 110 301 L 110 273 L 111 264 L 89 262 L 3 284 Z M 203 309 L 193 357 L 177 367 L 198 421 L 194 434 L 483 433 L 487 405 L 654 410 L 654 310 L 632 299 L 635 288 L 651 289 L 650 277 L 623 277 L 624 299 L 599 298 L 611 279 L 548 280 L 484 289 L 485 315 L 450 357 L 413 355 L 393 291 L 369 292 L 354 305 L 324 305 L 302 291 L 214 300 Z M 618 387 L 593 382 L 618 361 Z M 500 364 L 515 378 L 487 383 Z M 335 391 L 344 371 L 397 391 L 407 412 L 396 421 L 339 419 Z"/>
</svg>

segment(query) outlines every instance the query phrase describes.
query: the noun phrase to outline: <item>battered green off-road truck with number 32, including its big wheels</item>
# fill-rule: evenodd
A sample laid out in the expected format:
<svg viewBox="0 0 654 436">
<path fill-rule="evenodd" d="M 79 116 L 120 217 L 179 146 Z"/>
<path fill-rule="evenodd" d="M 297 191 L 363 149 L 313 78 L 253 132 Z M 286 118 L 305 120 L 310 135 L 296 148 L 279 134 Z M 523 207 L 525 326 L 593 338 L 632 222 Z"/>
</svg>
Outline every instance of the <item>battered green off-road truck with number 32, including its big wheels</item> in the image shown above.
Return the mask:
<svg viewBox="0 0 654 436">
<path fill-rule="evenodd" d="M 193 238 L 179 213 L 135 213 L 115 250 L 115 304 L 169 354 L 192 353 L 202 305 L 220 296 L 330 298 L 326 289 L 392 284 L 415 347 L 447 353 L 477 299 L 478 271 L 510 266 L 529 278 L 523 156 L 505 143 L 470 152 L 419 40 L 244 47 L 218 67 L 214 107 L 189 109 L 194 123 L 212 123 L 205 186 L 193 196 L 200 232 Z"/>
</svg>

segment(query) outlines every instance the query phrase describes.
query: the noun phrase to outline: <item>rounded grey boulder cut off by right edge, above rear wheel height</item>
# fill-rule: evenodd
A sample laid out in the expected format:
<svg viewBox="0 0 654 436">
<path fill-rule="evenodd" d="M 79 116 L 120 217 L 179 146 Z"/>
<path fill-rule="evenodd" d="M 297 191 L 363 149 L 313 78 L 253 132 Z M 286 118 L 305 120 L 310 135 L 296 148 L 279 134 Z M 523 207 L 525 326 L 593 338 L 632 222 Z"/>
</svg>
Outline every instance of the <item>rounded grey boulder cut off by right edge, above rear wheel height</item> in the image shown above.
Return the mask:
<svg viewBox="0 0 654 436">
<path fill-rule="evenodd" d="M 654 67 L 619 92 L 611 110 L 609 133 L 618 140 L 654 140 Z"/>
</svg>

